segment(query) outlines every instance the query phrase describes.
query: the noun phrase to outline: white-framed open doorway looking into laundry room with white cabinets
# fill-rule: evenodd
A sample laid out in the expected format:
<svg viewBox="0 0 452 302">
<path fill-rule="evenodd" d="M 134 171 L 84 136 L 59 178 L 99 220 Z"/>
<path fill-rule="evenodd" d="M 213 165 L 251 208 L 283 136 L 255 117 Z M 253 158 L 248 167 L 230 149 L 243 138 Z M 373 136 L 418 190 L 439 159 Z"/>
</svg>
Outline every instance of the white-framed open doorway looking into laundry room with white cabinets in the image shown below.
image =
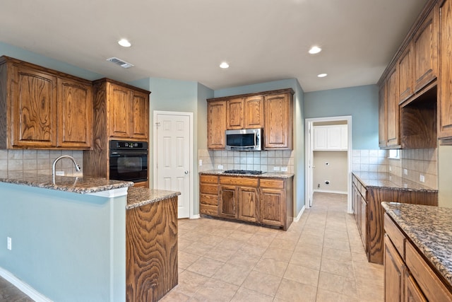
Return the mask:
<svg viewBox="0 0 452 302">
<path fill-rule="evenodd" d="M 315 141 L 314 130 L 316 131 L 317 138 Z M 341 134 L 341 131 L 343 134 Z M 330 139 L 328 139 L 328 136 Z M 341 141 L 340 138 L 345 136 L 347 137 L 347 140 Z M 347 115 L 340 117 L 318 117 L 306 119 L 304 137 L 306 152 L 305 207 L 312 207 L 314 192 L 346 192 L 347 212 L 352 213 L 352 117 Z M 340 152 L 332 153 L 336 151 Z M 314 152 L 316 152 L 316 154 Z M 316 158 L 316 156 L 318 156 L 318 158 Z M 325 160 L 325 158 L 331 158 L 333 166 L 331 165 L 330 160 Z M 344 163 L 344 161 L 346 161 L 346 163 Z M 329 176 L 326 177 L 325 174 L 323 174 L 320 178 L 315 178 L 316 181 L 314 181 L 314 169 L 316 168 L 316 164 L 319 165 L 318 170 L 325 167 L 332 168 L 331 178 L 334 179 L 335 177 L 338 179 L 337 182 L 341 181 L 340 178 L 337 178 L 338 174 L 346 175 L 346 184 L 341 185 L 339 189 L 335 190 Z M 340 172 L 335 172 L 334 168 L 340 169 L 338 170 Z M 344 190 L 344 188 L 346 189 Z"/>
</svg>

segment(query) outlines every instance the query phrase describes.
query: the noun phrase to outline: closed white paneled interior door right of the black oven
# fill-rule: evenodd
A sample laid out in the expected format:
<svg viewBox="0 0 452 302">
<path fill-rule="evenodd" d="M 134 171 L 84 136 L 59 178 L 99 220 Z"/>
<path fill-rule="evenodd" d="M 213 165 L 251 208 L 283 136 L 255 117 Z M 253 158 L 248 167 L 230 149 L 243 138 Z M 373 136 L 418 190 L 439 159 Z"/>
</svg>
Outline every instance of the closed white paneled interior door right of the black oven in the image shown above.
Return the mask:
<svg viewBox="0 0 452 302">
<path fill-rule="evenodd" d="M 177 217 L 190 216 L 192 171 L 191 112 L 154 112 L 154 188 L 179 191 Z"/>
</svg>

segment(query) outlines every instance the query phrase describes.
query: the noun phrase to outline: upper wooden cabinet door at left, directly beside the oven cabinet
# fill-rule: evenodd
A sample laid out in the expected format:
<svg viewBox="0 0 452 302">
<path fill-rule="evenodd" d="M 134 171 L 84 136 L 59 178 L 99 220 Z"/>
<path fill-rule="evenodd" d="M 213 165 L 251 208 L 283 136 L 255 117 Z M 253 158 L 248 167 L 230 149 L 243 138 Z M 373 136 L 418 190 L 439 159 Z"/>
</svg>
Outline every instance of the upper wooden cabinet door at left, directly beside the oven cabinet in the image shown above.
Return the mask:
<svg viewBox="0 0 452 302">
<path fill-rule="evenodd" d="M 89 149 L 93 132 L 91 86 L 60 78 L 58 92 L 58 146 Z"/>
</svg>

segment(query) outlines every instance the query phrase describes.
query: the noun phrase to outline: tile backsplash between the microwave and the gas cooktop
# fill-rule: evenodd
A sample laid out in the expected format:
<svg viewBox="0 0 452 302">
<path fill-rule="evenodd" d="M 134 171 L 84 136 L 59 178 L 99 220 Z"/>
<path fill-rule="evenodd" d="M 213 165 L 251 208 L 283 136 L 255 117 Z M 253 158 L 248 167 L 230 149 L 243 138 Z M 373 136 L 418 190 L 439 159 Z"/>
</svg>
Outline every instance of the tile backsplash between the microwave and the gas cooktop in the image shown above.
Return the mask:
<svg viewBox="0 0 452 302">
<path fill-rule="evenodd" d="M 198 150 L 198 161 L 203 165 L 199 171 L 206 170 L 261 170 L 279 172 L 287 169 L 294 173 L 294 151 L 210 151 Z M 222 165 L 222 169 L 218 168 Z M 284 171 L 285 172 L 285 171 Z"/>
</svg>

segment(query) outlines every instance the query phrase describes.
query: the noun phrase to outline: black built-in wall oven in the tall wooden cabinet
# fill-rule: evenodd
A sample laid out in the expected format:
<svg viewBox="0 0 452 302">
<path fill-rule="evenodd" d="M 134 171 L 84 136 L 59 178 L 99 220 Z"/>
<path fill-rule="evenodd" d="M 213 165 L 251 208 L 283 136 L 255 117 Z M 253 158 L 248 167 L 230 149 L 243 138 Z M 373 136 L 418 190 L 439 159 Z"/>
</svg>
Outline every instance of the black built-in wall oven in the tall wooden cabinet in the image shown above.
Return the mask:
<svg viewBox="0 0 452 302">
<path fill-rule="evenodd" d="M 148 142 L 110 141 L 109 179 L 144 182 L 148 180 Z"/>
</svg>

